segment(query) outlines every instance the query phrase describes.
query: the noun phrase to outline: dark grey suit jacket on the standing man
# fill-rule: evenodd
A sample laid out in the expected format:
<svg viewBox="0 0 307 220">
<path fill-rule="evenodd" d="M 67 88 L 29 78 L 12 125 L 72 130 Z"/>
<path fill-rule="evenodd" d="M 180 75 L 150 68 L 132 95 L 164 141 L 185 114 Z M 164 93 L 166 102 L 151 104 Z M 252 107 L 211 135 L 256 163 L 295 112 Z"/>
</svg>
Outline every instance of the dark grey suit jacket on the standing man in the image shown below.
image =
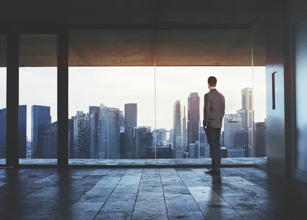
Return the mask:
<svg viewBox="0 0 307 220">
<path fill-rule="evenodd" d="M 225 97 L 216 89 L 211 89 L 205 94 L 203 126 L 222 128 L 225 115 Z"/>
</svg>

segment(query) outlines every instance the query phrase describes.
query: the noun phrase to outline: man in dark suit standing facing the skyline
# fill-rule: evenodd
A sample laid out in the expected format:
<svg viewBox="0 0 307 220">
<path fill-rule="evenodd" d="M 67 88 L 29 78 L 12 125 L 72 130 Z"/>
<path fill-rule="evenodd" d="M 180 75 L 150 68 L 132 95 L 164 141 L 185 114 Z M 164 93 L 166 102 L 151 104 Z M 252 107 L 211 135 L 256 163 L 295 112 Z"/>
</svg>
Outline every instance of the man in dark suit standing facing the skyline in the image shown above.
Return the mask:
<svg viewBox="0 0 307 220">
<path fill-rule="evenodd" d="M 205 94 L 203 126 L 210 146 L 212 168 L 206 174 L 220 175 L 221 166 L 221 128 L 225 115 L 225 97 L 215 88 L 216 78 L 208 78 L 209 92 Z"/>
</svg>

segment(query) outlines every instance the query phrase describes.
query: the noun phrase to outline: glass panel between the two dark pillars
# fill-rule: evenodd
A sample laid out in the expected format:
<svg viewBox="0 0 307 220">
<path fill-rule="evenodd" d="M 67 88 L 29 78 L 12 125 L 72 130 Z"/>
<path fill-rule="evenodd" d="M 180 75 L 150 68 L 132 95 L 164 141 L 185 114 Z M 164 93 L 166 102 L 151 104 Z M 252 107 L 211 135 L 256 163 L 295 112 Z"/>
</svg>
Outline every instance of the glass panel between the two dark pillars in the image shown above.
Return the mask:
<svg viewBox="0 0 307 220">
<path fill-rule="evenodd" d="M 19 163 L 57 163 L 57 36 L 20 35 Z"/>
</svg>

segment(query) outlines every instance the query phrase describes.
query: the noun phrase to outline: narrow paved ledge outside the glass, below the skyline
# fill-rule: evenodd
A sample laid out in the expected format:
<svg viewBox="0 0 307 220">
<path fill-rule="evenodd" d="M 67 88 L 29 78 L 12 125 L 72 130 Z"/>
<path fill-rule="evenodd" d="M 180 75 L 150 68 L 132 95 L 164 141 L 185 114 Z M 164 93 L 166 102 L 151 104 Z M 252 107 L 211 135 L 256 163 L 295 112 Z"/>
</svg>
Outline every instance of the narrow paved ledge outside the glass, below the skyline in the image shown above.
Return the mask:
<svg viewBox="0 0 307 220">
<path fill-rule="evenodd" d="M 56 164 L 56 159 L 19 159 L 19 164 Z M 222 158 L 222 164 L 267 164 L 267 158 Z M 5 164 L 5 159 L 0 159 Z M 211 158 L 201 159 L 70 159 L 70 165 L 210 165 Z"/>
</svg>

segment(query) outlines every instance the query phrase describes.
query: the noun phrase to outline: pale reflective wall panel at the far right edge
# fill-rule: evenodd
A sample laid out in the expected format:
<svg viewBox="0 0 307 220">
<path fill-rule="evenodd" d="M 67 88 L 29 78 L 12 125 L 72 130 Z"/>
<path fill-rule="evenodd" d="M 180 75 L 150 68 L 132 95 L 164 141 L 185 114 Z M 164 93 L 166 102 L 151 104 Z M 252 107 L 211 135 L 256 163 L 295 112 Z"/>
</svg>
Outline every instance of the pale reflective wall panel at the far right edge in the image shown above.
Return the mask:
<svg viewBox="0 0 307 220">
<path fill-rule="evenodd" d="M 307 84 L 307 2 L 291 1 L 290 7 L 290 72 L 292 76 L 293 100 L 293 177 L 307 182 L 307 119 L 305 117 L 305 86 Z"/>
</svg>

